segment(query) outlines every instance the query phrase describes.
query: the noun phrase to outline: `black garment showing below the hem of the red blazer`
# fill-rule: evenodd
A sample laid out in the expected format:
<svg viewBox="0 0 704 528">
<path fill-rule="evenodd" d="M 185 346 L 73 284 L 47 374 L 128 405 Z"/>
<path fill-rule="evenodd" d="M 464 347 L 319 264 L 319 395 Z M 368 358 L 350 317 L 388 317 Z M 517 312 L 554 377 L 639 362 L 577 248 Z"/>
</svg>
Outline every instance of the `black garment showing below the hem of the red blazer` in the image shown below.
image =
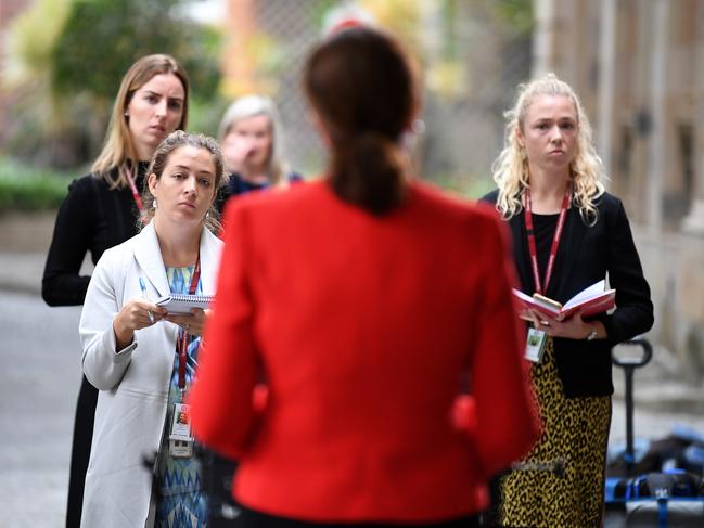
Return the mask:
<svg viewBox="0 0 704 528">
<path fill-rule="evenodd" d="M 241 528 L 478 528 L 478 516 L 472 515 L 469 517 L 461 517 L 445 523 L 434 524 L 376 524 L 376 523 L 358 523 L 358 524 L 321 524 L 321 523 L 306 523 L 303 520 L 294 520 L 286 517 L 277 517 L 267 515 L 254 510 L 242 507 L 240 516 L 238 517 L 238 527 Z"/>
</svg>

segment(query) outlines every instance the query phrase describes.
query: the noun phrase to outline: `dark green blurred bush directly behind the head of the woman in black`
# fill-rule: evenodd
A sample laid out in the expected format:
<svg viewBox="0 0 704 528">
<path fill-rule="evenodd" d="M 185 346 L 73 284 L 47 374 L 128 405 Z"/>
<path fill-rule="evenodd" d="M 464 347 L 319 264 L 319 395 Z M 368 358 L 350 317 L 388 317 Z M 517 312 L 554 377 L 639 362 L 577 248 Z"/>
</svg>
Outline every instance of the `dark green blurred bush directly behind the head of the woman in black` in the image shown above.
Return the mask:
<svg viewBox="0 0 704 528">
<path fill-rule="evenodd" d="M 182 0 L 75 0 L 53 50 L 56 93 L 88 91 L 112 101 L 129 66 L 150 53 L 174 55 L 189 74 L 194 94 L 212 96 L 219 81 L 219 36 L 189 20 Z"/>
</svg>

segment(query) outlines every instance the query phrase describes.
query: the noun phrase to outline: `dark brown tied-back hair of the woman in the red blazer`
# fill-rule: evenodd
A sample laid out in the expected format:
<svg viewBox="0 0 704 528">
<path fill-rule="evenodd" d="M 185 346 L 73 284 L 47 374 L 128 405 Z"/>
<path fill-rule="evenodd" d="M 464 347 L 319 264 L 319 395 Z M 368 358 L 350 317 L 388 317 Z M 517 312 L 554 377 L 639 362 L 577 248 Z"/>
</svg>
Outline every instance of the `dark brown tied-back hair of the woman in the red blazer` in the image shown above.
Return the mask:
<svg viewBox="0 0 704 528">
<path fill-rule="evenodd" d="M 330 138 L 335 193 L 375 215 L 400 205 L 406 195 L 400 140 L 417 89 L 396 40 L 370 27 L 342 29 L 312 52 L 304 86 Z"/>
</svg>

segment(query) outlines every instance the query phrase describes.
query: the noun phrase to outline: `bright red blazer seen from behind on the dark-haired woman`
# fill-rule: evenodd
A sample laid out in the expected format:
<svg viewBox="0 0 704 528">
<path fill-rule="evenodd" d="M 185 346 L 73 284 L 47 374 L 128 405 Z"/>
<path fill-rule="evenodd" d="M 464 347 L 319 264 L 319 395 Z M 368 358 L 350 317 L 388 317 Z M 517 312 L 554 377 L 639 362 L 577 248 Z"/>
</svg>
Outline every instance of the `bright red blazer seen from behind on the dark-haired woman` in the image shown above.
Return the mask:
<svg viewBox="0 0 704 528">
<path fill-rule="evenodd" d="M 425 184 L 408 198 L 379 218 L 319 181 L 228 204 L 190 401 L 196 437 L 239 459 L 242 504 L 450 519 L 535 439 L 504 228 Z"/>
</svg>

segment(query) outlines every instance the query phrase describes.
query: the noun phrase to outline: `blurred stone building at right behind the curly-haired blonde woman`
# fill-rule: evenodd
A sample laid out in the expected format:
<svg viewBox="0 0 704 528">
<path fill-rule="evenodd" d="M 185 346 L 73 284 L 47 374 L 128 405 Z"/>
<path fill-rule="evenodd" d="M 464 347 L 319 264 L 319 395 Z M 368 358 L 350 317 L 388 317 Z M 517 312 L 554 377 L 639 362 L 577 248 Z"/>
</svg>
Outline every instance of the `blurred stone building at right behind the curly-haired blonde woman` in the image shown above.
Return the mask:
<svg viewBox="0 0 704 528">
<path fill-rule="evenodd" d="M 701 387 L 704 1 L 534 5 L 533 72 L 556 72 L 592 117 L 610 188 L 625 202 L 653 287 L 661 364 Z"/>
</svg>

